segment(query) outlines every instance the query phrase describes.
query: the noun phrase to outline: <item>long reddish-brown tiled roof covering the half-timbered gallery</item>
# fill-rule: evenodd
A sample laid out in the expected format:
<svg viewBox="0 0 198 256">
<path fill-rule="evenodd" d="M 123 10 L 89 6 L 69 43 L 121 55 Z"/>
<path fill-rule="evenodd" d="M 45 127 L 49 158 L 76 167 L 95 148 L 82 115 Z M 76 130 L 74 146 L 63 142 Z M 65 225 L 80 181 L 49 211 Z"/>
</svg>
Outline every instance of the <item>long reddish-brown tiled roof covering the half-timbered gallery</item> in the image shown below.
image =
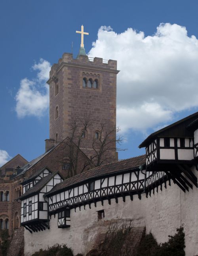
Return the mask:
<svg viewBox="0 0 198 256">
<path fill-rule="evenodd" d="M 83 173 L 75 175 L 75 176 L 73 176 L 69 179 L 66 179 L 65 181 L 55 185 L 55 187 L 53 187 L 53 189 L 51 189 L 51 191 L 49 191 L 46 194 L 51 194 L 51 192 L 61 190 L 70 185 L 80 183 L 80 182 L 85 181 L 90 178 L 99 177 L 99 176 L 102 176 L 107 173 L 114 173 L 114 172 L 118 172 L 118 171 L 134 169 L 134 168 L 137 168 L 145 163 L 146 163 L 146 155 L 141 155 L 141 156 L 136 156 L 133 158 L 121 160 L 121 161 L 118 161 L 115 163 L 105 164 L 103 166 L 95 167 L 93 169 L 90 169 L 89 171 L 85 171 Z"/>
</svg>

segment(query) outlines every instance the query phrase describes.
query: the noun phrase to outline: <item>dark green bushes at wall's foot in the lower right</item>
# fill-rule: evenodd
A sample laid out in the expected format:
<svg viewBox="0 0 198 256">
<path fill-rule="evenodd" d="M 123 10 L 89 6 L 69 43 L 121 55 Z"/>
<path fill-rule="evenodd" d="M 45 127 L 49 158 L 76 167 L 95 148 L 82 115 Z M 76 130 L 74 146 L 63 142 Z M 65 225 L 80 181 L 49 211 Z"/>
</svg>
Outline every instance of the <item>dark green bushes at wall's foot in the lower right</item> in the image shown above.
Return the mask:
<svg viewBox="0 0 198 256">
<path fill-rule="evenodd" d="M 158 244 L 152 233 L 145 234 L 137 248 L 137 256 L 185 256 L 185 234 L 183 227 L 177 229 L 166 243 Z"/>
</svg>

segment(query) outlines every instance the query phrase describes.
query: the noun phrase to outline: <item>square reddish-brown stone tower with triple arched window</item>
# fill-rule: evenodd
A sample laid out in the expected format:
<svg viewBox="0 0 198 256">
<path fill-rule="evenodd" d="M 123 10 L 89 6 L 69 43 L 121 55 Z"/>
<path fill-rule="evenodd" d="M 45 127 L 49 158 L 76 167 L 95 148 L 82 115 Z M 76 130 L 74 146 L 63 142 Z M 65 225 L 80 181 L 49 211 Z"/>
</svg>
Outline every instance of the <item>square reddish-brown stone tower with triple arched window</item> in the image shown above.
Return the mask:
<svg viewBox="0 0 198 256">
<path fill-rule="evenodd" d="M 77 31 L 76 31 L 77 32 Z M 79 32 L 80 33 L 80 32 Z M 116 129 L 116 75 L 117 62 L 102 58 L 88 58 L 84 44 L 76 59 L 64 53 L 58 64 L 53 64 L 49 73 L 49 137 L 62 141 L 70 136 L 74 121 L 77 129 L 83 129 L 83 120 L 89 120 L 80 149 L 89 157 L 93 156 L 93 139 Z M 112 133 L 112 141 L 116 133 Z M 110 146 L 109 154 L 117 158 L 115 147 Z"/>
</svg>

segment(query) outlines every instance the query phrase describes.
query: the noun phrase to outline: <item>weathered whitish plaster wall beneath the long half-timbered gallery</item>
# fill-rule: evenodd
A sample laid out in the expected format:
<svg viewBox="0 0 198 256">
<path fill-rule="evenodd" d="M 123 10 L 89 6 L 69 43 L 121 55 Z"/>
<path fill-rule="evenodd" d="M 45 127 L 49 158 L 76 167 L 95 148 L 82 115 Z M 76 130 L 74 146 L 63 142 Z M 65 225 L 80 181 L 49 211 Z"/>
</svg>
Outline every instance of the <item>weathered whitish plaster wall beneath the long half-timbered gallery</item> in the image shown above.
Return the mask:
<svg viewBox="0 0 198 256">
<path fill-rule="evenodd" d="M 197 175 L 198 172 L 194 170 Z M 185 252 L 186 256 L 194 256 L 198 254 L 198 189 L 193 187 L 193 190 L 184 193 L 171 181 L 171 187 L 155 194 L 151 197 L 145 197 L 142 194 L 142 199 L 133 196 L 133 201 L 129 196 L 126 196 L 126 202 L 122 198 L 118 198 L 118 204 L 115 200 L 111 200 L 111 205 L 108 201 L 104 201 L 104 206 L 97 202 L 97 207 L 91 204 L 91 209 L 86 205 L 76 208 L 70 212 L 71 227 L 58 229 L 57 214 L 51 217 L 50 229 L 38 233 L 29 233 L 25 229 L 25 255 L 31 255 L 40 248 L 47 248 L 53 244 L 67 244 L 77 253 L 84 253 L 86 244 L 90 243 L 97 233 L 97 229 L 92 227 L 98 225 L 99 221 L 111 219 L 131 219 L 133 227 L 146 226 L 147 232 L 152 231 L 158 243 L 168 241 L 168 235 L 174 235 L 176 228 L 183 225 L 185 231 Z M 97 220 L 98 210 L 105 210 L 105 218 Z M 90 231 L 89 231 L 90 228 Z M 85 236 L 85 230 L 87 236 Z"/>
</svg>

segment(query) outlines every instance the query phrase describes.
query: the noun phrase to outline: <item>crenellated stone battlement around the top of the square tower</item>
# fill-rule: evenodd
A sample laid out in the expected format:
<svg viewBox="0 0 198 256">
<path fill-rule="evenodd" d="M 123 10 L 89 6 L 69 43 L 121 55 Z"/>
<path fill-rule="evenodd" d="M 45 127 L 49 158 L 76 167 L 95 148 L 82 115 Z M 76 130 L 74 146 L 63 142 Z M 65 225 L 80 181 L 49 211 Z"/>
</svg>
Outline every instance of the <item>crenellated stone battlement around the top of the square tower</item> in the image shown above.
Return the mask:
<svg viewBox="0 0 198 256">
<path fill-rule="evenodd" d="M 92 58 L 85 55 L 80 55 L 78 59 L 73 58 L 72 53 L 64 53 L 62 58 L 59 59 L 57 64 L 53 64 L 51 67 L 51 71 L 49 72 L 50 78 L 55 75 L 56 72 L 61 69 L 63 65 L 74 65 L 74 66 L 87 66 L 89 68 L 96 68 L 96 69 L 105 69 L 105 70 L 112 70 L 117 71 L 117 61 L 116 60 L 105 60 L 103 58 Z"/>
</svg>

